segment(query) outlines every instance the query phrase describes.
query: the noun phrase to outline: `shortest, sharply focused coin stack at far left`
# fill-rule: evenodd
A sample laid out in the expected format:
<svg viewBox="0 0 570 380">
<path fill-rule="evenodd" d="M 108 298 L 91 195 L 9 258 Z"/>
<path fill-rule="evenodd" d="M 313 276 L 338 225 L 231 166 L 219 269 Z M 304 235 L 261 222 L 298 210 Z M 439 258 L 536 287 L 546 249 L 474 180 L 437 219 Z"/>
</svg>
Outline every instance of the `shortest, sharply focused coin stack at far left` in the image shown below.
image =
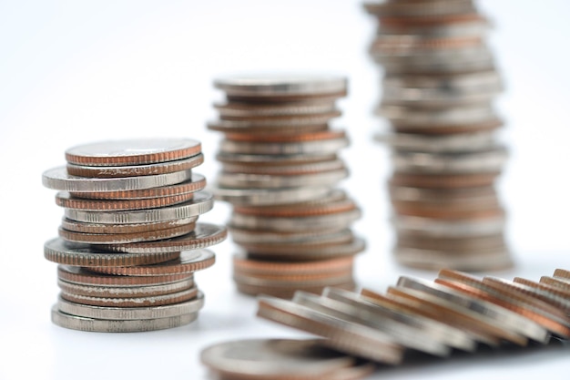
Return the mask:
<svg viewBox="0 0 570 380">
<path fill-rule="evenodd" d="M 215 262 L 206 249 L 225 227 L 198 223 L 213 195 L 194 139 L 103 141 L 66 150 L 66 166 L 46 170 L 65 209 L 59 237 L 46 241 L 57 262 L 52 321 L 97 332 L 136 332 L 189 324 L 204 295 L 194 272 Z"/>
</svg>

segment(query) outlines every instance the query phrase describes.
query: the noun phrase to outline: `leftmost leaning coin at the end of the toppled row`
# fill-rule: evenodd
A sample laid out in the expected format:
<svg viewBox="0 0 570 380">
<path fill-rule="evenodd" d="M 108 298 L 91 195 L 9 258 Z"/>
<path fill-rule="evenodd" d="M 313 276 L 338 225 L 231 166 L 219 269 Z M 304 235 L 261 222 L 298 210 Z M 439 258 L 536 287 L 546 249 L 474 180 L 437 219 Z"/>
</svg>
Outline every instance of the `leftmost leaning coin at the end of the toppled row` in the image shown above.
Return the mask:
<svg viewBox="0 0 570 380">
<path fill-rule="evenodd" d="M 403 347 L 389 334 L 361 324 L 352 324 L 308 307 L 274 297 L 258 297 L 257 315 L 328 338 L 325 344 L 347 354 L 355 354 L 380 363 L 402 362 Z"/>
</svg>

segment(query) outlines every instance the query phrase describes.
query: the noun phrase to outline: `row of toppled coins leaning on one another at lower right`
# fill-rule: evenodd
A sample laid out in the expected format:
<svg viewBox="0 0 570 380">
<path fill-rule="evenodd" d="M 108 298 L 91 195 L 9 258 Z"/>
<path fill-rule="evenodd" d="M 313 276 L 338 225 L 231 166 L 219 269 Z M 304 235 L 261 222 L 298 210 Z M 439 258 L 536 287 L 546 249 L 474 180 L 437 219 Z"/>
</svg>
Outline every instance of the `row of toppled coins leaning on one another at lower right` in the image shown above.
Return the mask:
<svg viewBox="0 0 570 380">
<path fill-rule="evenodd" d="M 444 357 L 481 345 L 535 346 L 570 339 L 570 272 L 557 269 L 534 282 L 443 269 L 434 281 L 402 276 L 386 293 L 328 288 L 292 300 L 260 296 L 258 316 L 389 365 L 402 364 L 409 351 Z"/>
</svg>

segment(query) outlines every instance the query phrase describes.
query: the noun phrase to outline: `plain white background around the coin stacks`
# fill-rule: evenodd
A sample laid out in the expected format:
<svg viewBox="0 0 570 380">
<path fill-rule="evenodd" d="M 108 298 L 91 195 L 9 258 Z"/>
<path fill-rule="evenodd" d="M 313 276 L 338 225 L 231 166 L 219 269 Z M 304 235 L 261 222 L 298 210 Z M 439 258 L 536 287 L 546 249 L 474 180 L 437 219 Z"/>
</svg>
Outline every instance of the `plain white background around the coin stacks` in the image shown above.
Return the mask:
<svg viewBox="0 0 570 380">
<path fill-rule="evenodd" d="M 484 0 L 495 24 L 489 43 L 507 89 L 497 100 L 511 159 L 499 185 L 509 211 L 516 266 L 492 273 L 538 280 L 570 268 L 566 215 L 570 149 L 570 57 L 565 0 Z M 432 279 L 392 261 L 385 180 L 387 150 L 372 141 L 381 70 L 367 54 L 376 27 L 361 1 L 1 1 L 0 379 L 205 378 L 199 351 L 245 337 L 306 336 L 255 317 L 253 298 L 231 282 L 231 241 L 197 274 L 206 294 L 198 322 L 161 332 L 95 334 L 51 324 L 56 264 L 43 243 L 63 211 L 44 188 L 44 170 L 65 164 L 65 149 L 102 139 L 184 137 L 202 142 L 216 176 L 219 134 L 207 130 L 221 97 L 214 77 L 233 72 L 325 70 L 346 75 L 350 94 L 335 121 L 351 136 L 342 183 L 363 210 L 354 230 L 368 242 L 357 259 L 362 286 L 383 291 L 401 274 Z M 218 203 L 201 220 L 224 223 Z M 482 273 L 484 274 L 484 273 Z M 568 347 L 486 352 L 382 369 L 377 378 L 567 378 Z M 566 371 L 565 371 L 566 370 Z"/>
</svg>

